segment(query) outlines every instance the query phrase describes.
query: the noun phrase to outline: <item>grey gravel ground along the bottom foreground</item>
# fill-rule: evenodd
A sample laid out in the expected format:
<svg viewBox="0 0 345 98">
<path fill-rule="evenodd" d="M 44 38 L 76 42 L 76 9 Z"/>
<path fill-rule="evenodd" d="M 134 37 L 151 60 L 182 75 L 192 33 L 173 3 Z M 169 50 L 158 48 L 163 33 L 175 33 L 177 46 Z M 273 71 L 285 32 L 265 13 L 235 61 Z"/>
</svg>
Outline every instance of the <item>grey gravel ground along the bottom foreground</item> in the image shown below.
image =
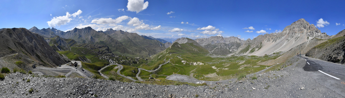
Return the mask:
<svg viewBox="0 0 345 98">
<path fill-rule="evenodd" d="M 298 59 L 298 58 L 295 58 Z M 303 59 L 304 60 L 304 59 Z M 33 77 L 6 74 L 0 81 L 2 98 L 343 98 L 320 85 L 302 68 L 302 59 L 280 71 L 271 71 L 242 83 L 208 86 L 148 85 L 93 78 Z M 23 80 L 24 78 L 24 80 Z M 30 82 L 27 82 L 30 79 Z M 18 83 L 17 83 L 18 82 Z M 33 88 L 33 93 L 29 89 Z M 267 88 L 267 89 L 266 89 Z M 301 89 L 302 88 L 302 89 Z M 304 89 L 303 89 L 304 88 Z"/>
</svg>

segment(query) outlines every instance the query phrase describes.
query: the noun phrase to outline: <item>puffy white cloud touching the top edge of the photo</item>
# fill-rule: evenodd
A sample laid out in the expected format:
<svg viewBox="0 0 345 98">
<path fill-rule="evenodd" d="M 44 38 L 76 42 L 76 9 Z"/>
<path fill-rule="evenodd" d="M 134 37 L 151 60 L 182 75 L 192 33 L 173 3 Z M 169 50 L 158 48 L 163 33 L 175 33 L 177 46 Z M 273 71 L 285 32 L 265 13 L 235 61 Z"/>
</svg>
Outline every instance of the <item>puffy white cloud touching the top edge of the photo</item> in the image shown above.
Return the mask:
<svg viewBox="0 0 345 98">
<path fill-rule="evenodd" d="M 144 0 L 128 0 L 127 8 L 128 11 L 139 13 L 142 10 L 145 10 L 149 6 L 149 2 Z"/>
</svg>

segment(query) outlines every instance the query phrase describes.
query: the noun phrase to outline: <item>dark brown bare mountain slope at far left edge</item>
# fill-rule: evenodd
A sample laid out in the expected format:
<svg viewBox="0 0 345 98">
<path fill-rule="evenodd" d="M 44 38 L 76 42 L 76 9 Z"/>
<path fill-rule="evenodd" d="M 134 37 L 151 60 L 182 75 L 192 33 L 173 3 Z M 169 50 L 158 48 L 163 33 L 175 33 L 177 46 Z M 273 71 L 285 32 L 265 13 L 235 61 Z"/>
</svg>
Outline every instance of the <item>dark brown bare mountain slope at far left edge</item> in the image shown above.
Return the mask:
<svg viewBox="0 0 345 98">
<path fill-rule="evenodd" d="M 0 31 L 0 37 L 2 42 L 0 57 L 15 54 L 9 58 L 14 61 L 23 61 L 24 65 L 37 63 L 48 67 L 65 64 L 68 61 L 51 48 L 42 36 L 26 28 L 3 29 Z M 27 69 L 28 66 L 19 67 Z"/>
</svg>

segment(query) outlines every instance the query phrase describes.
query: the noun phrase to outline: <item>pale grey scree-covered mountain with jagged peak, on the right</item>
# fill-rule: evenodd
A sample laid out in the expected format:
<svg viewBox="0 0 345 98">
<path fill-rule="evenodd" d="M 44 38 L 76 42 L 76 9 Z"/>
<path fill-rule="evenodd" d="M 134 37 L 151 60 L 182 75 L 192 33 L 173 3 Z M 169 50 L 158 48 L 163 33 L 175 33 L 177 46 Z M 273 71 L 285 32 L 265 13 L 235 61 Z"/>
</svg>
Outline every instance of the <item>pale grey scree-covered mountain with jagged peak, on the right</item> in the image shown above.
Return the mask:
<svg viewBox="0 0 345 98">
<path fill-rule="evenodd" d="M 330 38 L 326 33 L 321 33 L 314 24 L 309 24 L 304 19 L 286 26 L 281 33 L 259 35 L 253 40 L 247 40 L 238 51 L 229 55 L 255 55 L 264 56 L 275 52 L 286 52 L 293 47 L 313 38 Z"/>
</svg>

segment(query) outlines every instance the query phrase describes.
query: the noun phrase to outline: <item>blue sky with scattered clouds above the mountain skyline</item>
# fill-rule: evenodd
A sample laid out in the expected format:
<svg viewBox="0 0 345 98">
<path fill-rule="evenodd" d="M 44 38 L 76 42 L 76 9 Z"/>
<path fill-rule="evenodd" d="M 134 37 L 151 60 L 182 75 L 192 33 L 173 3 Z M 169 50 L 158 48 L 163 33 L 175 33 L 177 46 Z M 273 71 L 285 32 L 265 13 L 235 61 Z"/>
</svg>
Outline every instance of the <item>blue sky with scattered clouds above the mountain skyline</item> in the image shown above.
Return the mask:
<svg viewBox="0 0 345 98">
<path fill-rule="evenodd" d="M 221 35 L 246 40 L 282 31 L 303 18 L 335 35 L 345 29 L 344 4 L 345 0 L 2 0 L 0 28 L 67 31 L 91 26 L 156 38 Z"/>
</svg>

